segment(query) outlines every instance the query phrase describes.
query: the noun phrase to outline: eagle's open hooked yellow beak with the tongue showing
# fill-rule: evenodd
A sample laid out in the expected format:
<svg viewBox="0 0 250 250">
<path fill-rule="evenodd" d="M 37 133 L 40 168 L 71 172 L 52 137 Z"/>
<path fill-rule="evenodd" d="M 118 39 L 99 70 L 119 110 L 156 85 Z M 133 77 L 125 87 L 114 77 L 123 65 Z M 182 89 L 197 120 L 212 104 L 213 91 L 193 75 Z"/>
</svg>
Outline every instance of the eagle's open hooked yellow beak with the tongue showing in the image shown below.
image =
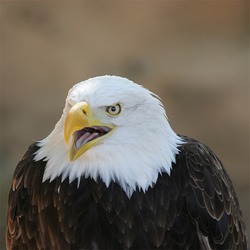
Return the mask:
<svg viewBox="0 0 250 250">
<path fill-rule="evenodd" d="M 64 141 L 70 147 L 69 159 L 76 160 L 113 129 L 94 119 L 86 102 L 75 104 L 68 112 L 64 124 Z"/>
</svg>

